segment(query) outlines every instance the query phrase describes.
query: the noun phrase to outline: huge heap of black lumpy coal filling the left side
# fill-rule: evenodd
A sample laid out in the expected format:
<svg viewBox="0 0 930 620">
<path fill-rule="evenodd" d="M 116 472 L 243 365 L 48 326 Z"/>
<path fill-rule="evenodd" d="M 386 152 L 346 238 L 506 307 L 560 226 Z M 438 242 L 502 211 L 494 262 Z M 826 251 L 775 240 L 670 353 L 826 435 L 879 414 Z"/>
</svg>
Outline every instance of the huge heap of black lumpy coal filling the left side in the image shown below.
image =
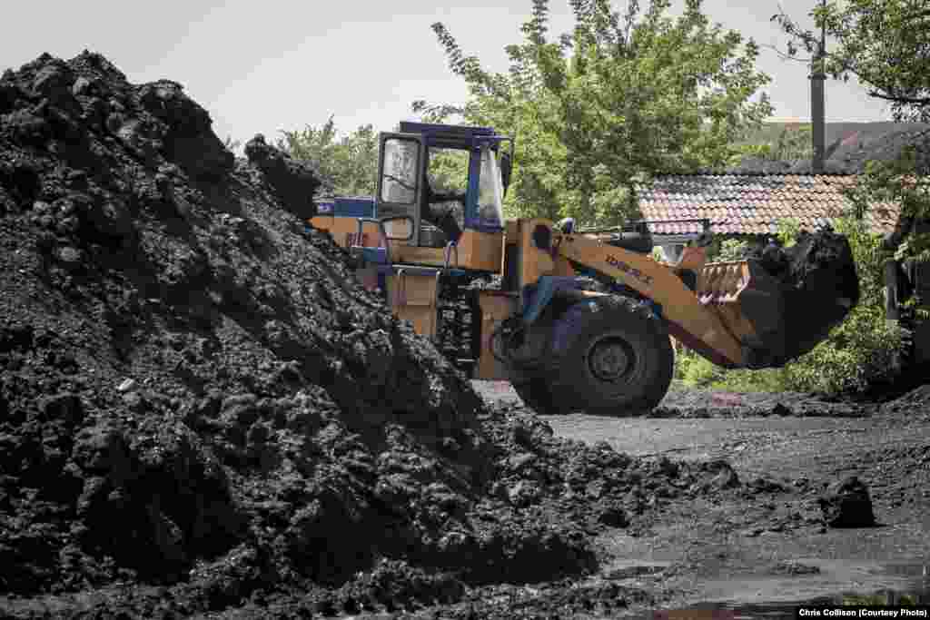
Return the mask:
<svg viewBox="0 0 930 620">
<path fill-rule="evenodd" d="M 0 79 L 3 613 L 458 600 L 697 492 L 486 410 L 304 231 L 312 170 L 246 151 L 99 54 Z"/>
</svg>

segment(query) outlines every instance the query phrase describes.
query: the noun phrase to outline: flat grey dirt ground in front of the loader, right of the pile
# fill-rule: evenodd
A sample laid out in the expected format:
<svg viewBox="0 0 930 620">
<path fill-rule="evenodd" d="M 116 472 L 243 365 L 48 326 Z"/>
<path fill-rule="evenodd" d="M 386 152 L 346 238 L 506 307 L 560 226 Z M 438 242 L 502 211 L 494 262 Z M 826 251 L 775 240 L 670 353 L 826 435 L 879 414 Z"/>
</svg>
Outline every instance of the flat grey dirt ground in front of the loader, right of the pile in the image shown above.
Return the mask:
<svg viewBox="0 0 930 620">
<path fill-rule="evenodd" d="M 506 384 L 476 386 L 489 401 L 519 402 Z M 599 537 L 599 578 L 641 587 L 652 605 L 771 617 L 793 613 L 791 603 L 883 590 L 930 601 L 928 386 L 883 404 L 673 389 L 650 416 L 545 419 L 558 436 L 626 454 L 733 467 L 732 489 L 659 508 L 641 531 Z M 847 476 L 868 485 L 876 526 L 824 525 L 817 499 Z"/>
</svg>

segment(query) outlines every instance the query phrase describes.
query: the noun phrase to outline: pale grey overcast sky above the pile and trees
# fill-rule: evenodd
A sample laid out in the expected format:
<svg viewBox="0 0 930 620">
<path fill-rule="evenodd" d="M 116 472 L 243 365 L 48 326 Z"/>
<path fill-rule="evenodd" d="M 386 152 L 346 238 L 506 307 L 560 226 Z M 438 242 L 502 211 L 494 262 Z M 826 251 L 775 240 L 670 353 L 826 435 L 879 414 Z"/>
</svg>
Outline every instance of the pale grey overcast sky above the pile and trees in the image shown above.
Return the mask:
<svg viewBox="0 0 930 620">
<path fill-rule="evenodd" d="M 782 0 L 796 19 L 816 0 Z M 683 0 L 674 0 L 681 7 Z M 644 0 L 643 5 L 647 5 Z M 615 6 L 626 6 L 616 0 Z M 20 2 L 0 37 L 0 69 L 48 52 L 71 59 L 87 48 L 113 61 L 130 82 L 179 82 L 206 107 L 220 138 L 319 125 L 371 123 L 390 130 L 410 102 L 460 103 L 467 90 L 449 72 L 430 29 L 445 23 L 467 54 L 504 71 L 504 46 L 521 40 L 531 0 L 50 0 Z M 775 0 L 705 0 L 711 20 L 759 44 L 784 48 L 769 18 Z M 566 0 L 551 0 L 551 32 L 571 29 Z M 778 118 L 809 118 L 808 69 L 764 50 L 760 69 Z M 883 102 L 856 84 L 828 81 L 828 121 L 888 120 Z"/>
</svg>

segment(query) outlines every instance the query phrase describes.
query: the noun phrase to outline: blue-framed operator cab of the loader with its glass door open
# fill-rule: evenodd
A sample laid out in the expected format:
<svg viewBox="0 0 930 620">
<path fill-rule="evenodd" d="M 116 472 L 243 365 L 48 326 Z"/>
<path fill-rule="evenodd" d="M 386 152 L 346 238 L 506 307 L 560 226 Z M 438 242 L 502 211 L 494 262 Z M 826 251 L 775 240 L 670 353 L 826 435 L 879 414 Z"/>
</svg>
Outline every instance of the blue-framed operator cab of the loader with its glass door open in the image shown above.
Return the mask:
<svg viewBox="0 0 930 620">
<path fill-rule="evenodd" d="M 402 122 L 400 129 L 380 135 L 375 196 L 375 217 L 392 240 L 445 247 L 468 229 L 503 229 L 512 139 L 489 127 Z M 505 141 L 510 152 L 502 152 Z"/>
</svg>

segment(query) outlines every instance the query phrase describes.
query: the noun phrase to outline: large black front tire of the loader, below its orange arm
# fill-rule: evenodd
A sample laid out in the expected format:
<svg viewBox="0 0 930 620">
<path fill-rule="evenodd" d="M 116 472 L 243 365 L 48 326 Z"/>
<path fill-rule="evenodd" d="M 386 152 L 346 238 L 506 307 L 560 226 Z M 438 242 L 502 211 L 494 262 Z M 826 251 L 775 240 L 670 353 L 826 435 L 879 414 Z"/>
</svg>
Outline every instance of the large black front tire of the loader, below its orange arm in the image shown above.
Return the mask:
<svg viewBox="0 0 930 620">
<path fill-rule="evenodd" d="M 673 372 L 665 325 L 643 302 L 593 297 L 554 325 L 547 373 L 553 410 L 635 416 L 665 397 Z"/>
</svg>

